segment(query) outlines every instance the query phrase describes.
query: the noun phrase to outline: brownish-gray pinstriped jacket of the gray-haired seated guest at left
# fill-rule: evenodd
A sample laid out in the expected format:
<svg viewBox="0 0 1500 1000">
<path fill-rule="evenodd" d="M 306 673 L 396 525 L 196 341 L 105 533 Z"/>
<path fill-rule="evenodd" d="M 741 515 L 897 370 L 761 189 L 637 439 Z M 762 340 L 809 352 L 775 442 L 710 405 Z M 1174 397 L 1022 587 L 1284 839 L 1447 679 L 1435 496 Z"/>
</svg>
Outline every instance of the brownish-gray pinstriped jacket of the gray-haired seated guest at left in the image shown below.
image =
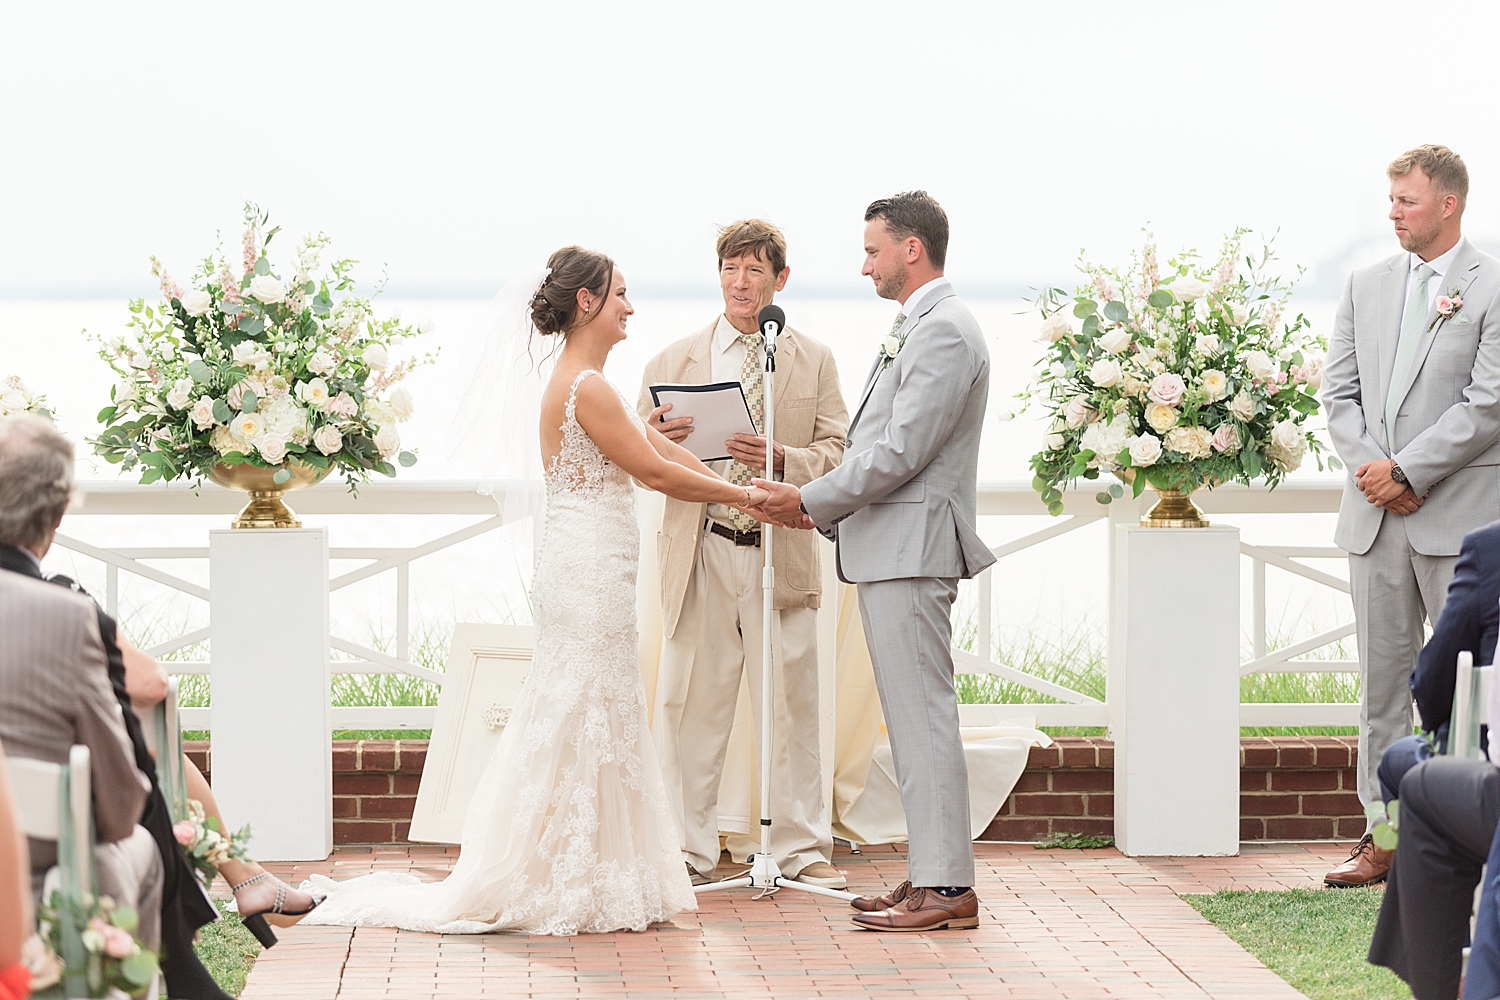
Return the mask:
<svg viewBox="0 0 1500 1000">
<path fill-rule="evenodd" d="M 86 597 L 3 570 L 0 744 L 9 757 L 50 763 L 68 763 L 74 744 L 88 747 L 96 840 L 135 834 L 150 784 L 110 684 L 98 610 Z M 33 873 L 45 873 L 56 844 L 30 847 Z"/>
</svg>

